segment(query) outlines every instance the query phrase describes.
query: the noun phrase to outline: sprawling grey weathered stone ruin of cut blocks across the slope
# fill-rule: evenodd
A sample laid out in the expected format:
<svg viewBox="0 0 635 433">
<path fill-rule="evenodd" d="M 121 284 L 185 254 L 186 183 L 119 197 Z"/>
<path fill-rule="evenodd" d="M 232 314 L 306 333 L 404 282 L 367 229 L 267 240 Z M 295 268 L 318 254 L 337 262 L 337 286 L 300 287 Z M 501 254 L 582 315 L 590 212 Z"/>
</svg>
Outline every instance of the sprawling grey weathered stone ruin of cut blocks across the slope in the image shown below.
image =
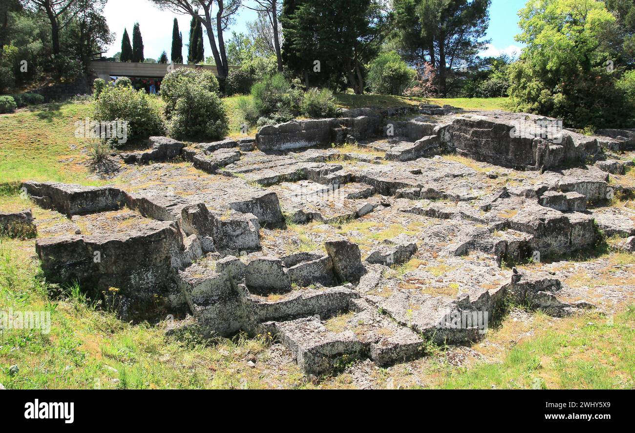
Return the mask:
<svg viewBox="0 0 635 433">
<path fill-rule="evenodd" d="M 601 205 L 633 195 L 620 183 L 632 161 L 616 152 L 635 149 L 635 131 L 555 135 L 541 129 L 555 119 L 528 114 L 414 110 L 214 143 L 152 137 L 119 154 L 112 186 L 25 182 L 67 217 L 39 230 L 44 274 L 125 320 L 171 315 L 171 332 L 271 333 L 315 375 L 476 342 L 505 298 L 555 316 L 592 307 L 548 272 L 505 264 L 591 250 L 600 232 L 632 250 L 635 211 Z"/>
</svg>

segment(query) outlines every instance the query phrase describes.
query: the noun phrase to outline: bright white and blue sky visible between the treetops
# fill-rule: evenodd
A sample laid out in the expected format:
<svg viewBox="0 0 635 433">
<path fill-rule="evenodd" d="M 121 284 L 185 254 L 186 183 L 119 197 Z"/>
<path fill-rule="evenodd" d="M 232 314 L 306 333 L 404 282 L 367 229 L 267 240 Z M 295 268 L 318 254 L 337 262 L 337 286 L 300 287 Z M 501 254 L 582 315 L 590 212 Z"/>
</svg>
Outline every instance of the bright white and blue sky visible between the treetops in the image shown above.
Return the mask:
<svg viewBox="0 0 635 433">
<path fill-rule="evenodd" d="M 481 53 L 483 56 L 497 56 L 501 53 L 519 53 L 521 44 L 514 41 L 514 36 L 520 32 L 518 28 L 518 11 L 525 6 L 526 0 L 492 0 L 490 6 L 490 27 L 486 39 L 491 39 L 487 49 Z M 112 57 L 121 51 L 121 36 L 123 30 L 128 29 L 132 38 L 132 27 L 139 23 L 141 34 L 144 38 L 144 55 L 146 58 L 159 58 L 163 50 L 168 53 L 172 46 L 172 23 L 175 17 L 178 20 L 178 28 L 183 34 L 183 55 L 187 57 L 185 41 L 189 37 L 189 15 L 177 15 L 172 11 L 159 10 L 149 0 L 108 0 L 104 8 L 104 15 L 114 32 L 115 38 L 105 56 Z M 229 30 L 225 32 L 225 40 L 231 37 L 231 32 L 246 33 L 246 23 L 256 19 L 255 11 L 241 8 L 236 20 Z M 205 42 L 205 57 L 211 55 L 210 43 L 207 36 Z"/>
</svg>

